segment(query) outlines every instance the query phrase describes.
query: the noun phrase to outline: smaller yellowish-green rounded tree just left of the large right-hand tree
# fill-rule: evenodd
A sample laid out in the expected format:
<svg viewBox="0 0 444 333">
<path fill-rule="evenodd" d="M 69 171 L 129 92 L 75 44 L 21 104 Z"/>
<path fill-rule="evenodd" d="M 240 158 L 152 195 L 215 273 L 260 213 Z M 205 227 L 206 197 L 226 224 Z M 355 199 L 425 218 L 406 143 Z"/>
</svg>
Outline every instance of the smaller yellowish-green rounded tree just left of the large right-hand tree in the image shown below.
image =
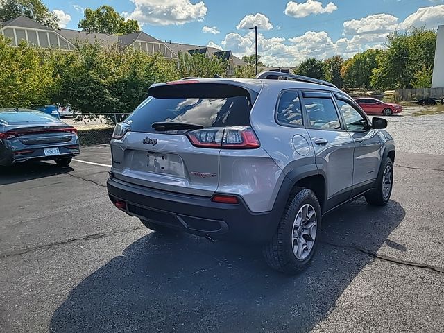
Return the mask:
<svg viewBox="0 0 444 333">
<path fill-rule="evenodd" d="M 344 87 L 369 89 L 371 87 L 370 77 L 373 74 L 373 69 L 378 65 L 377 57 L 382 52 L 377 49 L 368 49 L 345 60 L 341 67 Z"/>
</svg>

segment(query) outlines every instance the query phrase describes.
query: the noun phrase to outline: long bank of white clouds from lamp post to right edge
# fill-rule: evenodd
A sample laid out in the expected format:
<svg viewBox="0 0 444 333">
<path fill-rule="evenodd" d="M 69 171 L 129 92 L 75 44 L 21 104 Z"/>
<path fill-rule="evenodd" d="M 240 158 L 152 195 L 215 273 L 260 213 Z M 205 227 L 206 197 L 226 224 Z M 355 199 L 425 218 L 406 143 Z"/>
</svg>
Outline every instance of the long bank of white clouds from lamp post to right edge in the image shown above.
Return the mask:
<svg viewBox="0 0 444 333">
<path fill-rule="evenodd" d="M 288 40 L 281 37 L 267 38 L 259 33 L 257 46 L 261 61 L 275 67 L 295 67 L 310 57 L 323 60 L 336 54 L 347 59 L 368 49 L 384 49 L 387 35 L 393 31 L 412 25 L 436 28 L 443 22 L 443 17 L 443 5 L 420 8 L 404 22 L 384 13 L 368 15 L 344 22 L 343 37 L 336 41 L 325 31 L 307 31 Z M 228 33 L 221 46 L 224 50 L 232 50 L 234 56 L 250 56 L 255 53 L 255 33 Z"/>
</svg>

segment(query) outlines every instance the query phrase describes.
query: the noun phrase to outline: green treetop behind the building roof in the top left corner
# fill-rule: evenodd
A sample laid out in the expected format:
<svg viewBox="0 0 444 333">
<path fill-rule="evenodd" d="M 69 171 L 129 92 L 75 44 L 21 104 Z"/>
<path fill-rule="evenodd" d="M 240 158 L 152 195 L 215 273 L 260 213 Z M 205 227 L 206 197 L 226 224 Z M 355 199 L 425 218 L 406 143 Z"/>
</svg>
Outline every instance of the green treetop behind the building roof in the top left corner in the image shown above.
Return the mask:
<svg viewBox="0 0 444 333">
<path fill-rule="evenodd" d="M 0 22 L 26 16 L 45 26 L 58 28 L 58 17 L 41 0 L 0 0 Z"/>
</svg>

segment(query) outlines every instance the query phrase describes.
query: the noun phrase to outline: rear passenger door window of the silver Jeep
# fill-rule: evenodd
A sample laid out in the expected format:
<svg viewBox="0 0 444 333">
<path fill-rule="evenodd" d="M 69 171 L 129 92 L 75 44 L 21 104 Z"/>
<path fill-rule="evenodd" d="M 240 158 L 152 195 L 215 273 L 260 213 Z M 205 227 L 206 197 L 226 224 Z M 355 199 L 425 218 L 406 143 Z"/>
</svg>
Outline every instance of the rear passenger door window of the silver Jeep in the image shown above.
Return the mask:
<svg viewBox="0 0 444 333">
<path fill-rule="evenodd" d="M 311 128 L 340 130 L 341 123 L 332 99 L 304 98 L 305 110 Z"/>
</svg>

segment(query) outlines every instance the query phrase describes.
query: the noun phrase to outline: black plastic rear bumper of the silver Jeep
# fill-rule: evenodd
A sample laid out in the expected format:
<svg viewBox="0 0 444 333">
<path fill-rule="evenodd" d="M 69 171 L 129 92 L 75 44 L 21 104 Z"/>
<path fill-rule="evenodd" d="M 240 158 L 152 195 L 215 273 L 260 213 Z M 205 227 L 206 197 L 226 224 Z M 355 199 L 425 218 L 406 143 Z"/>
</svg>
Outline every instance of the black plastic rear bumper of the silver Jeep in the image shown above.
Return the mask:
<svg viewBox="0 0 444 333">
<path fill-rule="evenodd" d="M 113 203 L 126 203 L 124 212 L 139 219 L 217 239 L 264 243 L 273 237 L 279 219 L 273 212 L 253 213 L 239 198 L 236 205 L 214 203 L 210 198 L 160 191 L 108 179 Z"/>
</svg>

